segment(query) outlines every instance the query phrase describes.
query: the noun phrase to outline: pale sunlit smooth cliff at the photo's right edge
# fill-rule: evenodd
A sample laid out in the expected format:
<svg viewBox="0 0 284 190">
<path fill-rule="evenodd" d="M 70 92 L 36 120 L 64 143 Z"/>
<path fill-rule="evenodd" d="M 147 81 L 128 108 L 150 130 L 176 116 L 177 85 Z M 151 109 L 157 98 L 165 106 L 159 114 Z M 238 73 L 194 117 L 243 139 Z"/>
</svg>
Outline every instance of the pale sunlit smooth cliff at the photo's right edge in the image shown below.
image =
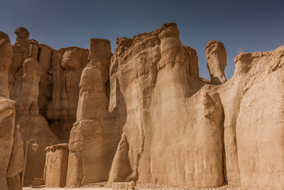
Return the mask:
<svg viewBox="0 0 284 190">
<path fill-rule="evenodd" d="M 245 189 L 283 189 L 284 46 L 241 53 L 235 64 L 231 83 L 241 91 L 235 120 L 240 184 Z M 227 88 L 226 97 L 235 93 L 230 84 Z"/>
</svg>

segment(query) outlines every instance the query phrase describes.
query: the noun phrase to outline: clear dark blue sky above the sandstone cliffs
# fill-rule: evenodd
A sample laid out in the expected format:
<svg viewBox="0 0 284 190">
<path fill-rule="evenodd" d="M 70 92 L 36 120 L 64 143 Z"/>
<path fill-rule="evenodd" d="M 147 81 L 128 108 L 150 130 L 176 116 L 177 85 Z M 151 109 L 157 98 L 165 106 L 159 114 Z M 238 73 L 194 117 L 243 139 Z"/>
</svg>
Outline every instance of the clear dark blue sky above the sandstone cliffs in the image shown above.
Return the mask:
<svg viewBox="0 0 284 190">
<path fill-rule="evenodd" d="M 227 51 L 226 77 L 234 73 L 239 52 L 271 51 L 284 45 L 284 0 L 1 0 L 0 31 L 14 43 L 23 26 L 30 38 L 53 48 L 88 48 L 89 38 L 115 38 L 175 22 L 183 46 L 194 48 L 200 75 L 209 78 L 205 45 L 217 40 Z"/>
</svg>

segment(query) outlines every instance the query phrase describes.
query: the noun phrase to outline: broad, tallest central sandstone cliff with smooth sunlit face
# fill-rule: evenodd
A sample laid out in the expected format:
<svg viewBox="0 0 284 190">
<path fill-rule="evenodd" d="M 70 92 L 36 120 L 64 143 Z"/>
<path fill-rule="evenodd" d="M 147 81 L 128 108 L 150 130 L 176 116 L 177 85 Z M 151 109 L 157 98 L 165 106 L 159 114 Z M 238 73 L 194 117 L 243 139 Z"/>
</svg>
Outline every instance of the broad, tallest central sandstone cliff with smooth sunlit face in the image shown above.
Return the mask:
<svg viewBox="0 0 284 190">
<path fill-rule="evenodd" d="M 109 110 L 117 107 L 125 122 L 109 182 L 224 183 L 221 101 L 199 80 L 196 53 L 178 36 L 166 23 L 116 47 Z"/>
</svg>

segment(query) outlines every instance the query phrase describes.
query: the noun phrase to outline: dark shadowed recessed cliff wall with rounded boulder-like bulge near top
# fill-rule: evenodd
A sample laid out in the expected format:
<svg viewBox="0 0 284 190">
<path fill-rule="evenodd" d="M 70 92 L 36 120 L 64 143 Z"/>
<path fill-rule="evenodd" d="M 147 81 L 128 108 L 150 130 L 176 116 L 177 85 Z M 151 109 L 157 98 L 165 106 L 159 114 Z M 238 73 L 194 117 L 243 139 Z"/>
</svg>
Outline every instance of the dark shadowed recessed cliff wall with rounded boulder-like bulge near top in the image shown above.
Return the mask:
<svg viewBox="0 0 284 190">
<path fill-rule="evenodd" d="M 48 119 L 50 129 L 63 142 L 68 142 L 72 124 L 76 121 L 80 77 L 88 63 L 88 53 L 87 49 L 70 47 L 53 53 L 43 48 L 43 54 L 40 54 L 45 70 L 40 89 L 46 92 L 39 97 L 41 112 Z"/>
</svg>

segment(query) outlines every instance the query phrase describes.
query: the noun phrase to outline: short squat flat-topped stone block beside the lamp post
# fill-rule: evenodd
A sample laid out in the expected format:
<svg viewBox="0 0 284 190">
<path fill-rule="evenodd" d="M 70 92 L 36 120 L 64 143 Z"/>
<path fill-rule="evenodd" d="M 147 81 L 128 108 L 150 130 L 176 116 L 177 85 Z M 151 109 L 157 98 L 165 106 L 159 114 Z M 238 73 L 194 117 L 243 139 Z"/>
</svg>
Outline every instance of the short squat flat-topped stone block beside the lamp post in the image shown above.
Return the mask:
<svg viewBox="0 0 284 190">
<path fill-rule="evenodd" d="M 45 186 L 65 187 L 69 149 L 68 144 L 45 148 Z"/>
</svg>

